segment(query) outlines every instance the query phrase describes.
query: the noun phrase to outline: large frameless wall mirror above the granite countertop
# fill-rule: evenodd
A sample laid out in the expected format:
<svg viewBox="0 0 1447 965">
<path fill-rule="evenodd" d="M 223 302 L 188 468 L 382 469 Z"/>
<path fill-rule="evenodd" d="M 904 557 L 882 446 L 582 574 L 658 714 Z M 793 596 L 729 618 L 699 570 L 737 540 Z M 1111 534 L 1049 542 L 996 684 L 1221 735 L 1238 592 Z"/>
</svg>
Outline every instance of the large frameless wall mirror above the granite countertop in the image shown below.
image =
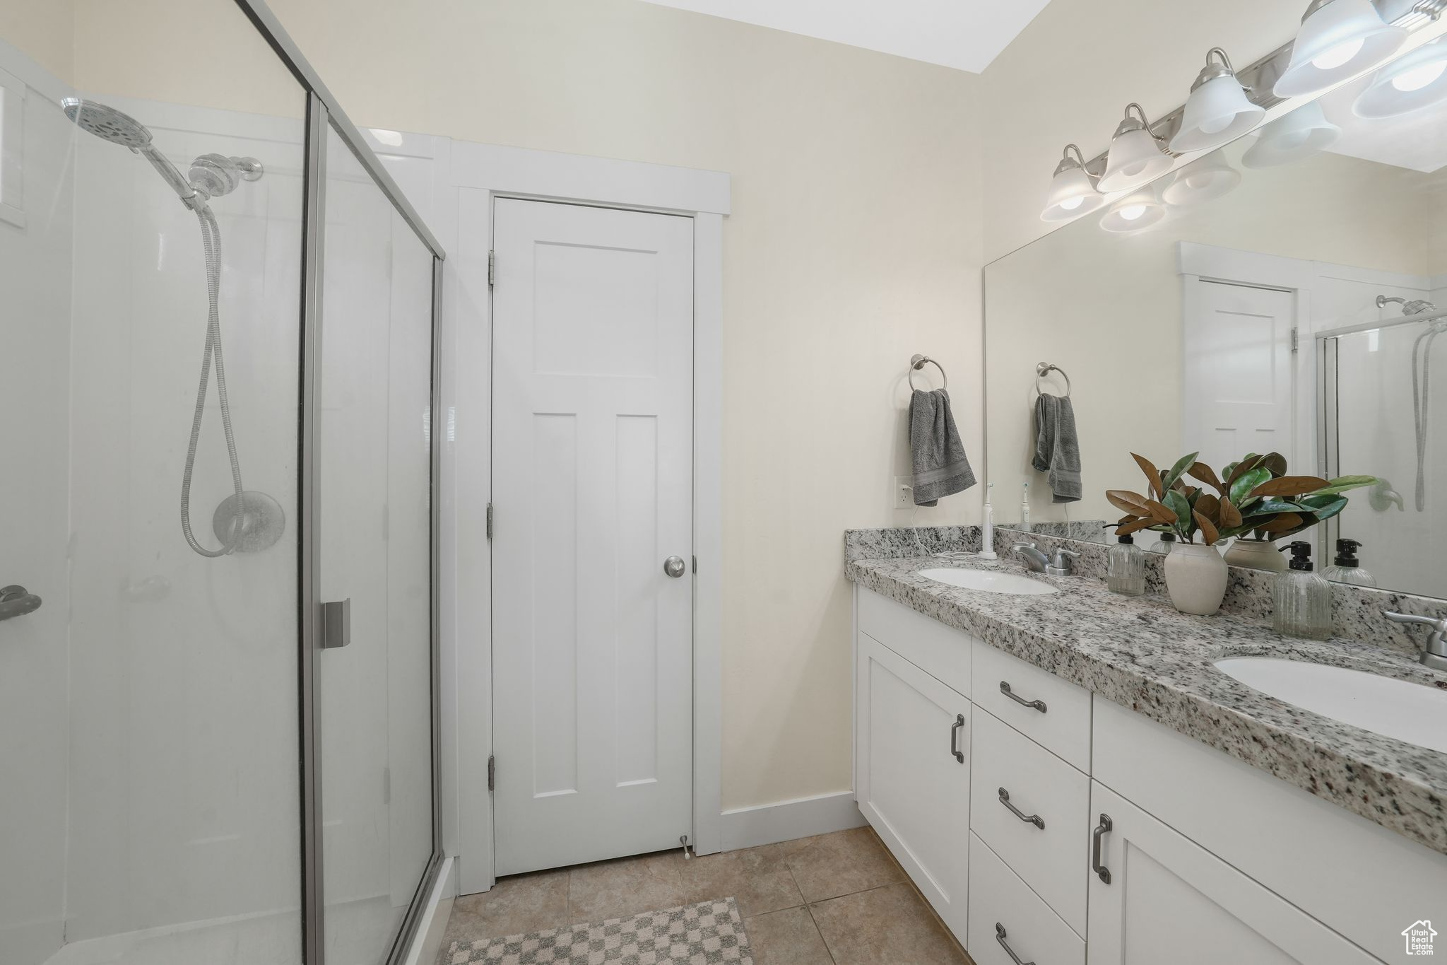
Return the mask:
<svg viewBox="0 0 1447 965">
<path fill-rule="evenodd" d="M 1281 453 L 1292 473 L 1380 479 L 1292 537 L 1318 567 L 1350 538 L 1378 586 L 1447 598 L 1443 64 L 1388 65 L 985 269 L 1003 525 L 1029 483 L 1032 524 L 1104 540 L 1121 515 L 1106 490 L 1146 485 L 1132 453 Z M 1078 501 L 1033 467 L 1037 392 L 1069 394 Z"/>
</svg>

